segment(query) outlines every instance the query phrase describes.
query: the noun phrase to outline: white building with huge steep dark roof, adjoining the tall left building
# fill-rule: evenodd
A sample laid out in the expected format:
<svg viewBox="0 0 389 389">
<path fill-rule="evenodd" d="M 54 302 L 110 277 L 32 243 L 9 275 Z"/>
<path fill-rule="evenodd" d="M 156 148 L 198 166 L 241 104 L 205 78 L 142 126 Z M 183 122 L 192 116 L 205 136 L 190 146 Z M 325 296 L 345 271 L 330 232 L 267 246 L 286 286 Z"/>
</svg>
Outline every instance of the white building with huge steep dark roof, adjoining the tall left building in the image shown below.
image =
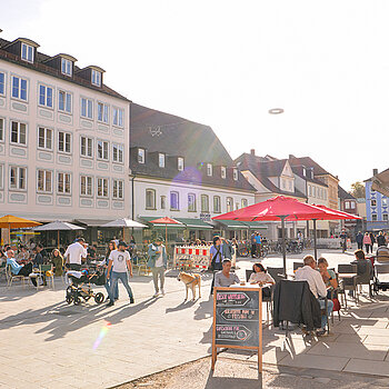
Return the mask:
<svg viewBox="0 0 389 389">
<path fill-rule="evenodd" d="M 181 221 L 171 229 L 173 240 L 248 235 L 248 225 L 211 221 L 252 205 L 255 189 L 210 127 L 131 103 L 130 132 L 133 219 Z"/>
</svg>

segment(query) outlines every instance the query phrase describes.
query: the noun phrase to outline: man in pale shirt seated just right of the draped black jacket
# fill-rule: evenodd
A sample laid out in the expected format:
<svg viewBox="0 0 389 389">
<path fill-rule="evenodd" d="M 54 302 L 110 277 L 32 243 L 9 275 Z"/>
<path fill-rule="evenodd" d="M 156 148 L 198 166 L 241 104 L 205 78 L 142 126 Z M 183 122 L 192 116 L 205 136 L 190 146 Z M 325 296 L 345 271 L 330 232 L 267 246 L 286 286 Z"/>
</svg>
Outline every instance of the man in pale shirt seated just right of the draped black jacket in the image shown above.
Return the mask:
<svg viewBox="0 0 389 389">
<path fill-rule="evenodd" d="M 327 289 L 319 271 L 316 270 L 316 260 L 312 256 L 303 257 L 303 267 L 296 271 L 296 281 L 307 281 L 309 289 L 320 303 L 320 309 L 326 308 Z M 327 316 L 321 316 L 321 329 L 316 333 L 318 337 L 326 335 L 327 317 L 332 312 L 333 302 L 327 300 Z"/>
</svg>

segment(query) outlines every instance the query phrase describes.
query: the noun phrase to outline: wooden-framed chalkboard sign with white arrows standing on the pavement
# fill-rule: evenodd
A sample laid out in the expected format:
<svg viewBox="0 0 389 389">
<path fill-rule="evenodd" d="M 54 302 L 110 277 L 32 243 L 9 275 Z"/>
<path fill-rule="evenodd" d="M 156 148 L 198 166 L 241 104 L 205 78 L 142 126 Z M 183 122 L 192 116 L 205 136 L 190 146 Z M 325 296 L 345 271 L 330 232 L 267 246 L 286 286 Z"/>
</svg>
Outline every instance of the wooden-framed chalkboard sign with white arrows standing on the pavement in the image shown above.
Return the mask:
<svg viewBox="0 0 389 389">
<path fill-rule="evenodd" d="M 262 290 L 258 287 L 215 288 L 212 369 L 217 348 L 258 349 L 261 371 Z"/>
</svg>

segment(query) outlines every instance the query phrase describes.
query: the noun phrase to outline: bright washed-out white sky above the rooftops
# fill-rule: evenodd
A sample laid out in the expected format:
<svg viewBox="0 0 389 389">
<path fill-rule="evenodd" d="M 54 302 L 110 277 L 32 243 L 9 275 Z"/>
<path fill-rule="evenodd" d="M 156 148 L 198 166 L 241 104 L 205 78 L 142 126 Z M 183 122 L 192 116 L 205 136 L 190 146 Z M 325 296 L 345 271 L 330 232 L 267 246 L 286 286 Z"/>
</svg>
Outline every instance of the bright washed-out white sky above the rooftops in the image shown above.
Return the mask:
<svg viewBox="0 0 389 389">
<path fill-rule="evenodd" d="M 0 9 L 1 38 L 102 67 L 104 83 L 133 102 L 212 127 L 232 158 L 309 156 L 346 190 L 389 168 L 387 0 L 0 0 Z"/>
</svg>

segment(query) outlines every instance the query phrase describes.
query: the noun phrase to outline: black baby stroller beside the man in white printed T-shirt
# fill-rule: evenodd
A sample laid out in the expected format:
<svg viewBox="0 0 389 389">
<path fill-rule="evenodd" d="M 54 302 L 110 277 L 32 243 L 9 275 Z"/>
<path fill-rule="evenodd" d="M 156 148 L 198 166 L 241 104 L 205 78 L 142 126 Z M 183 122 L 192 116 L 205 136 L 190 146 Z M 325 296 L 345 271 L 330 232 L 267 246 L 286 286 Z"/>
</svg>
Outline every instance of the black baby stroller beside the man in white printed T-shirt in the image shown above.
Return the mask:
<svg viewBox="0 0 389 389">
<path fill-rule="evenodd" d="M 94 269 L 93 272 L 89 273 L 88 270 L 82 271 L 68 271 L 68 279 L 71 285 L 67 288 L 66 301 L 68 303 L 74 303 L 79 306 L 81 299 L 88 301 L 93 298 L 97 303 L 104 301 L 104 295 L 101 292 L 94 293 L 91 283 L 97 286 L 106 285 L 106 276 L 103 269 Z"/>
</svg>

